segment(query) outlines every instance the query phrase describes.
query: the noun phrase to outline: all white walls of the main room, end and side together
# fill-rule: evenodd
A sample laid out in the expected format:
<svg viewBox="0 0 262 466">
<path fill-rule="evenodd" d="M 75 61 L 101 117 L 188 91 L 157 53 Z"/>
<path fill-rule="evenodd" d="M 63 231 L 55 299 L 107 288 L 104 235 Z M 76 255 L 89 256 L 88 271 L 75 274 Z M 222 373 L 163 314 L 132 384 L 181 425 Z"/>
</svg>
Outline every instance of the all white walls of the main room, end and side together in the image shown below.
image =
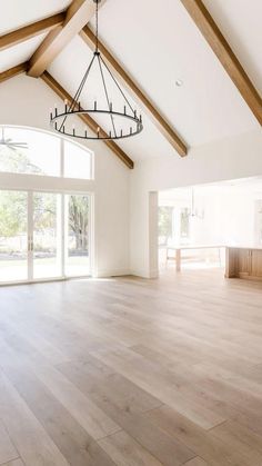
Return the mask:
<svg viewBox="0 0 262 466">
<path fill-rule="evenodd" d="M 49 110 L 59 99 L 40 79 L 19 76 L 1 83 L 0 101 L 0 125 L 49 130 Z M 184 159 L 174 153 L 138 161 L 132 171 L 103 143 L 93 142 L 89 148 L 95 152 L 99 276 L 129 271 L 155 276 L 155 226 L 151 216 L 155 221 L 157 201 L 155 195 L 149 196 L 151 191 L 262 175 L 261 131 L 194 148 Z M 82 181 L 80 185 L 82 189 Z"/>
</svg>

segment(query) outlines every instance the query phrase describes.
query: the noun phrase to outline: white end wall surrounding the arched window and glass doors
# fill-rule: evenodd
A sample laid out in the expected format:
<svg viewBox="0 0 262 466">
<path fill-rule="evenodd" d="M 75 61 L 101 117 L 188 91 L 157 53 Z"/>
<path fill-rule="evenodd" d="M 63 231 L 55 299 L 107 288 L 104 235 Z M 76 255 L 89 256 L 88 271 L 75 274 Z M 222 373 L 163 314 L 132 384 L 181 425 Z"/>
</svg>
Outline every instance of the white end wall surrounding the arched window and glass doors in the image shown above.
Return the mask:
<svg viewBox="0 0 262 466">
<path fill-rule="evenodd" d="M 41 79 L 19 76 L 1 83 L 0 102 L 0 125 L 50 130 L 50 108 L 59 103 L 59 98 Z M 94 272 L 97 276 L 127 274 L 130 269 L 130 170 L 102 142 L 90 142 L 88 147 L 94 151 L 94 182 L 71 181 L 71 187 L 94 191 Z M 63 182 L 60 186 L 64 188 Z M 48 188 L 56 186 L 47 184 Z"/>
</svg>

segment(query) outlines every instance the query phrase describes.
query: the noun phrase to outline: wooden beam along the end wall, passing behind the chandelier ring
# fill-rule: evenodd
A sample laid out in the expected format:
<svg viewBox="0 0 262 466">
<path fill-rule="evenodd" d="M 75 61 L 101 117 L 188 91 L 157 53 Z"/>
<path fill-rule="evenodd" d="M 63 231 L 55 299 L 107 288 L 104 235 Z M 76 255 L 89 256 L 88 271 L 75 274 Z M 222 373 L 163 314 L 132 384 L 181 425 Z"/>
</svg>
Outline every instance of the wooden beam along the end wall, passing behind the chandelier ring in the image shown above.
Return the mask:
<svg viewBox="0 0 262 466">
<path fill-rule="evenodd" d="M 62 99 L 68 100 L 70 103 L 72 101 L 72 97 L 66 91 L 66 89 L 60 86 L 58 81 L 48 72 L 44 71 L 43 75 L 41 75 L 41 78 L 43 81 Z M 79 118 L 94 132 L 97 133 L 98 125 L 89 115 L 80 115 Z M 105 131 L 100 127 L 100 133 L 101 137 L 105 137 Z M 114 155 L 122 160 L 123 163 L 127 165 L 129 168 L 133 168 L 133 161 L 127 156 L 127 153 L 112 140 L 104 140 L 103 141 L 113 152 Z"/>
</svg>

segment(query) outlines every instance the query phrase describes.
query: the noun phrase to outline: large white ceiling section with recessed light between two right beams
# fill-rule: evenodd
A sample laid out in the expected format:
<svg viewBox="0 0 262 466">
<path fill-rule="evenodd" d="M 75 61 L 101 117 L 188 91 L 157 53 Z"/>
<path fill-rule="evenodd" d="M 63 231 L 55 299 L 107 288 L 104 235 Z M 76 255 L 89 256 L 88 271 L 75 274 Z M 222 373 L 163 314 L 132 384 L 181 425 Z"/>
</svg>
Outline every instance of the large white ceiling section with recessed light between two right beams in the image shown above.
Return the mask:
<svg viewBox="0 0 262 466">
<path fill-rule="evenodd" d="M 180 0 L 108 0 L 100 31 L 191 146 L 259 127 Z"/>
</svg>

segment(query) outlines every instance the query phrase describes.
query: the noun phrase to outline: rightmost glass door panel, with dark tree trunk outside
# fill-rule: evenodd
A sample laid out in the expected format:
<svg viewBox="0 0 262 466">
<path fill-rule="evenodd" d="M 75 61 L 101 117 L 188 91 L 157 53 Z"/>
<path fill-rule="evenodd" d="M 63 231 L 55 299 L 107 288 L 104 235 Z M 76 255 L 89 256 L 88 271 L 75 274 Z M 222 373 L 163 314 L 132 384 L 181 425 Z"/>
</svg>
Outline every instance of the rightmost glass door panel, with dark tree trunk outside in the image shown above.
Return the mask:
<svg viewBox="0 0 262 466">
<path fill-rule="evenodd" d="M 87 276 L 90 274 L 90 197 L 66 196 L 64 214 L 66 276 Z"/>
</svg>

